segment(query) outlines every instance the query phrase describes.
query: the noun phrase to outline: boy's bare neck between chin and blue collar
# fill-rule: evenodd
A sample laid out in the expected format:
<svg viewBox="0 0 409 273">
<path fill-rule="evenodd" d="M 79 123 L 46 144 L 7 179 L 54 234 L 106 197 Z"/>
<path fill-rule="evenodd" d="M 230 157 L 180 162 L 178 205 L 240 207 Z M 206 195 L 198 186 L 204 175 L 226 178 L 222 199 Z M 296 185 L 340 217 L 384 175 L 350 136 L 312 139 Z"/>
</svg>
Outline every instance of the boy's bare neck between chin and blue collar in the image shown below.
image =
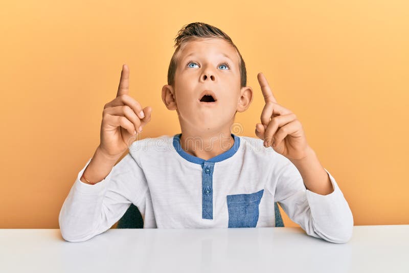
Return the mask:
<svg viewBox="0 0 409 273">
<path fill-rule="evenodd" d="M 230 130 L 217 133 L 195 133 L 181 130 L 180 146 L 193 156 L 209 160 L 229 150 L 234 145 L 234 138 Z"/>
</svg>

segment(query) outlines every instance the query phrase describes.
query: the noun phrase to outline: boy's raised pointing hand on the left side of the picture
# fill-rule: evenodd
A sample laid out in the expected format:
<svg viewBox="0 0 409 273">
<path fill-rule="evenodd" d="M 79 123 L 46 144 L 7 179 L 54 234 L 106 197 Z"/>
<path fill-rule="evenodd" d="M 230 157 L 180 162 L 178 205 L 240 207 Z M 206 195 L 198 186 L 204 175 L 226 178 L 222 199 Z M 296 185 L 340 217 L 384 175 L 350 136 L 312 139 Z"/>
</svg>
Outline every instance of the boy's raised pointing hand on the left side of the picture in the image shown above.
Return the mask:
<svg viewBox="0 0 409 273">
<path fill-rule="evenodd" d="M 129 93 L 129 67 L 122 66 L 117 97 L 104 106 L 101 123 L 101 143 L 98 148 L 111 158 L 119 158 L 136 139 L 151 117 L 152 107 L 142 109 Z"/>
</svg>

